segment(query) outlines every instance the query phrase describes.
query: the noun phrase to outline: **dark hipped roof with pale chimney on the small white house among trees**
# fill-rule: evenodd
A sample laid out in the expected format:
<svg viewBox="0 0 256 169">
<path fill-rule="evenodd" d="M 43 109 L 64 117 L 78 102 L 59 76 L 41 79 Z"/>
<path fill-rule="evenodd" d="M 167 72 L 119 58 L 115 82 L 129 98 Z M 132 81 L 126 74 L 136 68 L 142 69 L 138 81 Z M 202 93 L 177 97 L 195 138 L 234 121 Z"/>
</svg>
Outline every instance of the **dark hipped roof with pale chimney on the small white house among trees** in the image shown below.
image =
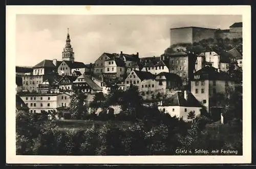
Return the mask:
<svg viewBox="0 0 256 169">
<path fill-rule="evenodd" d="M 181 91 L 173 94 L 168 99 L 168 102 L 163 103 L 163 106 L 202 107 L 201 103 L 192 93 L 187 92 L 187 99 L 185 99 L 184 92 Z"/>
</svg>

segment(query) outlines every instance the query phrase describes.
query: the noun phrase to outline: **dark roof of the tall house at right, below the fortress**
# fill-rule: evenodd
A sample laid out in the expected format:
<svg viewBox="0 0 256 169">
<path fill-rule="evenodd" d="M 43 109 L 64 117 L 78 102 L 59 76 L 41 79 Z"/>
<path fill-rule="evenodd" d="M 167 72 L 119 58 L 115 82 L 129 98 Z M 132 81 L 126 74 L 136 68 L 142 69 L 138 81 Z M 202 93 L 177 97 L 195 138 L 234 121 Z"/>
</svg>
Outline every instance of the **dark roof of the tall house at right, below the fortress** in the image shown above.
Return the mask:
<svg viewBox="0 0 256 169">
<path fill-rule="evenodd" d="M 218 69 L 212 66 L 205 66 L 202 69 L 196 71 L 195 75 L 199 75 L 199 79 L 195 79 L 193 77 L 194 81 L 200 81 L 200 80 L 232 80 L 232 78 L 224 71 L 218 72 Z"/>
</svg>

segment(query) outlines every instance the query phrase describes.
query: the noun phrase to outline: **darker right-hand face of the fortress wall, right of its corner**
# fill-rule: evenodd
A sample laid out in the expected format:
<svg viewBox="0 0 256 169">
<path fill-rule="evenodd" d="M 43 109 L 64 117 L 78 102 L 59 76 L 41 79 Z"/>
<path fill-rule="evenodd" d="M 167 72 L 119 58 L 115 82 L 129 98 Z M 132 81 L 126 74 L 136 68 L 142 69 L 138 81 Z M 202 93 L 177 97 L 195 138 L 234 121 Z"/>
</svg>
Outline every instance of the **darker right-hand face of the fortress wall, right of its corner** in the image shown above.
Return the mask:
<svg viewBox="0 0 256 169">
<path fill-rule="evenodd" d="M 203 39 L 215 38 L 216 29 L 193 28 L 193 43 Z"/>
</svg>

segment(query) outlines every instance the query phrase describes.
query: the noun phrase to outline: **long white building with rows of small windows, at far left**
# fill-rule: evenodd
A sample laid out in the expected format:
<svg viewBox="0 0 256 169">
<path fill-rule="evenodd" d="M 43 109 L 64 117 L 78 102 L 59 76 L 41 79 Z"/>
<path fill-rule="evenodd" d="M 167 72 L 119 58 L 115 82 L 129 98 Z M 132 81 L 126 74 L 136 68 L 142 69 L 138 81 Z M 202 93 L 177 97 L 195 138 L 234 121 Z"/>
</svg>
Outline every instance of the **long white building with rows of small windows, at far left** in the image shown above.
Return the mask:
<svg viewBox="0 0 256 169">
<path fill-rule="evenodd" d="M 59 107 L 69 107 L 71 101 L 71 95 L 67 93 L 29 93 L 20 95 L 20 98 L 29 107 L 31 113 L 57 111 Z"/>
</svg>

